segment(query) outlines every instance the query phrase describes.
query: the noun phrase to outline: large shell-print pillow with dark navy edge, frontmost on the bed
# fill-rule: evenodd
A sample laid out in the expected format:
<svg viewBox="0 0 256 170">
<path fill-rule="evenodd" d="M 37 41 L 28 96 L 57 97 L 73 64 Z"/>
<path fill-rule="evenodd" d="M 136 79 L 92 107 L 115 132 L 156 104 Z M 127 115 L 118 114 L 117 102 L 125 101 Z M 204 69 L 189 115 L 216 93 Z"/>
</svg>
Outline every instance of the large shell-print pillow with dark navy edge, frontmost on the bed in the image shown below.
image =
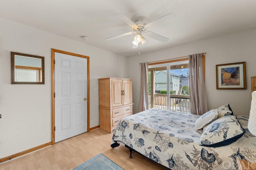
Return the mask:
<svg viewBox="0 0 256 170">
<path fill-rule="evenodd" d="M 206 147 L 222 147 L 234 143 L 244 133 L 236 116 L 224 116 L 204 127 L 200 144 Z"/>
</svg>

